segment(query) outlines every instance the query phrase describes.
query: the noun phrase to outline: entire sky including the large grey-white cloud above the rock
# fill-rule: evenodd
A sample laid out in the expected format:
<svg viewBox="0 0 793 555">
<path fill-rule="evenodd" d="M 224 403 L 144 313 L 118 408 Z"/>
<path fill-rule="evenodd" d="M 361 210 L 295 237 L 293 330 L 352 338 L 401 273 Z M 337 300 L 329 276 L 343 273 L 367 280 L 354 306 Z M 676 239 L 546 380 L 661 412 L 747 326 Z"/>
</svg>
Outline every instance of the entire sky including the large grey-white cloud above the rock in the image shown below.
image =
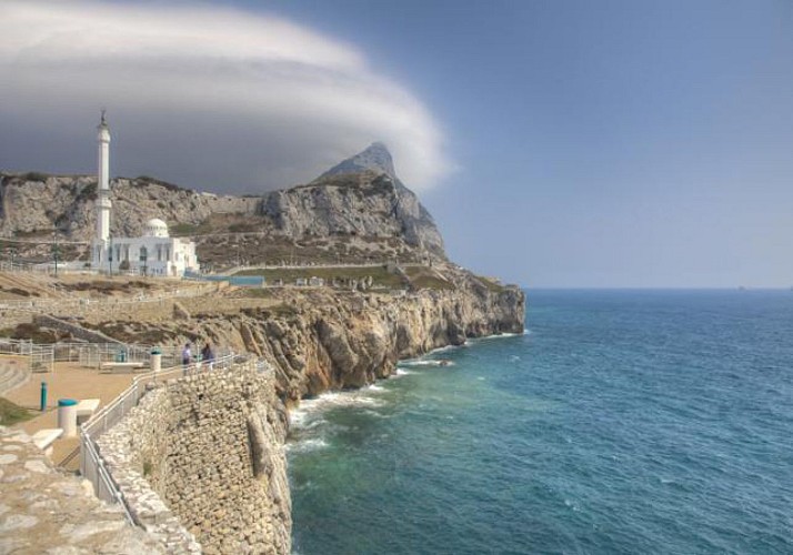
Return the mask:
<svg viewBox="0 0 793 555">
<path fill-rule="evenodd" d="M 790 0 L 4 0 L 0 169 L 215 192 L 383 141 L 529 287 L 793 285 Z"/>
</svg>

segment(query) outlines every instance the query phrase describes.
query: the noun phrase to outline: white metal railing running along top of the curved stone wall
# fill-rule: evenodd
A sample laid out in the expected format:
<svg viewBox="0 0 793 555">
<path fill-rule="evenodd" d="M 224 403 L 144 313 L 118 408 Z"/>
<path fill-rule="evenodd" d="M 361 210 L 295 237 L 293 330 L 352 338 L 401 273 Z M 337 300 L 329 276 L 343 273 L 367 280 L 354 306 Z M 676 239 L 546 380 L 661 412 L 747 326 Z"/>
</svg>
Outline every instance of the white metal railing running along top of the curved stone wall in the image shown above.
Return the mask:
<svg viewBox="0 0 793 555">
<path fill-rule="evenodd" d="M 82 424 L 80 426 L 80 474 L 91 482 L 97 497 L 108 503 L 120 503 L 130 524 L 139 525 L 140 523 L 137 523 L 132 517 L 118 484 L 104 465 L 97 440 L 138 405 L 145 393 L 145 384 L 174 377 L 179 373 L 184 376 L 194 375 L 199 372 L 228 370 L 234 364 L 243 362 L 239 359 L 234 354 L 229 354 L 211 362 L 197 362 L 188 366 L 173 366 L 160 372 L 141 374 L 132 380 L 132 384 L 118 397 L 100 408 L 87 423 Z"/>
</svg>

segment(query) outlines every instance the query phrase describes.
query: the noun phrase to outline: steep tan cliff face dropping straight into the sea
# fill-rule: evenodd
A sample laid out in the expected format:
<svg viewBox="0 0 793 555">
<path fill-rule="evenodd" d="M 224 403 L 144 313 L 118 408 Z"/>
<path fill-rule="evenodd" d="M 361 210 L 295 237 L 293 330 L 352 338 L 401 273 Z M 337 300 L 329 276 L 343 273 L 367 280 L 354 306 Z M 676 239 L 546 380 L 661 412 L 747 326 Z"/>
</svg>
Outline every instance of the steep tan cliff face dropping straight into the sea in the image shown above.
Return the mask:
<svg viewBox="0 0 793 555">
<path fill-rule="evenodd" d="M 391 375 L 400 359 L 462 345 L 468 337 L 522 333 L 523 310 L 518 290 L 483 296 L 424 291 L 401 299 L 350 297 L 292 317 L 257 319 L 242 329 L 245 346 L 278 369 L 281 395 L 298 400 L 361 387 Z"/>
</svg>

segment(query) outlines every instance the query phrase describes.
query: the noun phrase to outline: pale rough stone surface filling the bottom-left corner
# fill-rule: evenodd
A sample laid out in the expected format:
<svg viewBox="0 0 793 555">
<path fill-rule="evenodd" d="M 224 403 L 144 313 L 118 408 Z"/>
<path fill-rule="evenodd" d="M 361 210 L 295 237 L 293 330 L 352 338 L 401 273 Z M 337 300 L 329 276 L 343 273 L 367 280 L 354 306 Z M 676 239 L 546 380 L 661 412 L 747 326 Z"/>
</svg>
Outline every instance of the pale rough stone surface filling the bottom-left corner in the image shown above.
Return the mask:
<svg viewBox="0 0 793 555">
<path fill-rule="evenodd" d="M 0 555 L 162 553 L 120 506 L 52 467 L 24 432 L 0 426 Z"/>
</svg>

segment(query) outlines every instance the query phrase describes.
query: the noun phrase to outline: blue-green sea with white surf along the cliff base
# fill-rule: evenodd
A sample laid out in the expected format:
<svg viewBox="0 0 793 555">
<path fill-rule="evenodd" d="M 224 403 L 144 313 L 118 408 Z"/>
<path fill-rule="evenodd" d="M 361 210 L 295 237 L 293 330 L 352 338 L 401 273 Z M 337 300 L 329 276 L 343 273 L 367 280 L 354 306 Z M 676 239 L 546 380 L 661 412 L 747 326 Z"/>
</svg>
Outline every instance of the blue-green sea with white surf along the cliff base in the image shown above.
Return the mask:
<svg viewBox="0 0 793 555">
<path fill-rule="evenodd" d="M 793 291 L 528 296 L 301 405 L 295 553 L 793 553 Z"/>
</svg>

